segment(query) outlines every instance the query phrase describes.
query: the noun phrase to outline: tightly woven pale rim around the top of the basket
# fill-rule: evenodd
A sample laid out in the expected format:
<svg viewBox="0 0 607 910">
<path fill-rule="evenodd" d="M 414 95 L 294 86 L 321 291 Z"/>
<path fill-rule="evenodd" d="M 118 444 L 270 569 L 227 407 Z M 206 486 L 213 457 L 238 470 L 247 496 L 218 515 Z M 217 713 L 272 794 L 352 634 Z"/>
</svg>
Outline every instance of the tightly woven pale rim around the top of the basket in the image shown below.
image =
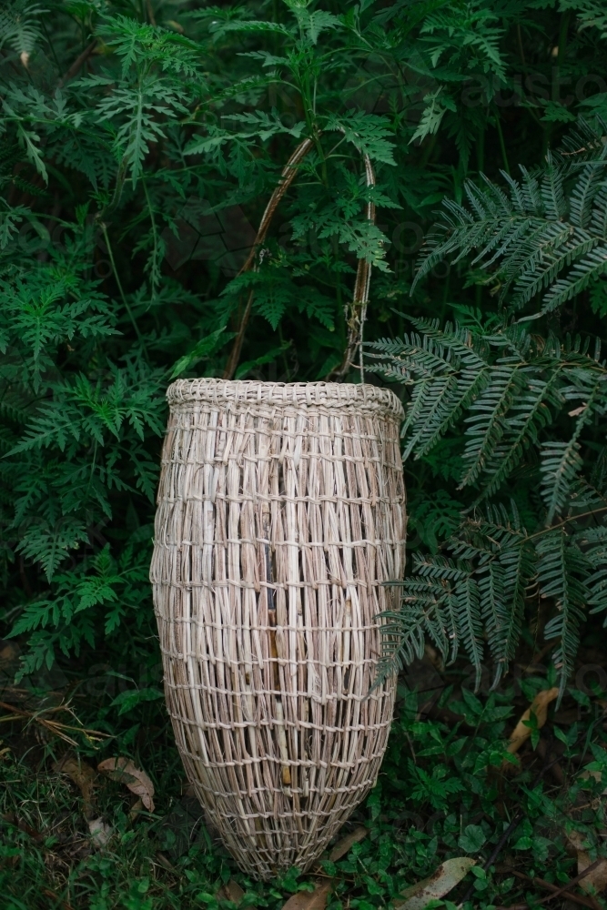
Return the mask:
<svg viewBox="0 0 607 910">
<path fill-rule="evenodd" d="M 404 417 L 400 400 L 391 389 L 354 382 L 265 382 L 258 379 L 177 379 L 167 389 L 171 407 L 197 401 L 228 405 L 230 403 L 265 403 L 297 408 L 362 407 Z"/>
</svg>

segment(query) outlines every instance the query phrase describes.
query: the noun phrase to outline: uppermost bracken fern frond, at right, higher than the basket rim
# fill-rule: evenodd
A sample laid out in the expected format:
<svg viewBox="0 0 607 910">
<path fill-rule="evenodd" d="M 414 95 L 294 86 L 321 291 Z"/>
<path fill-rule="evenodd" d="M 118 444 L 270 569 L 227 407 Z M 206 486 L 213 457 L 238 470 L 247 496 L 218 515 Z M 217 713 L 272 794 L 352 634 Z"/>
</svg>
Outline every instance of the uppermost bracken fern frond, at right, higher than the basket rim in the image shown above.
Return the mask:
<svg viewBox="0 0 607 910">
<path fill-rule="evenodd" d="M 446 200 L 422 247 L 413 288 L 443 258 L 470 257 L 471 265 L 485 270 L 499 261 L 501 302 L 518 309 L 544 290 L 542 312 L 550 312 L 602 276 L 607 145 L 590 132 L 582 161 L 569 160 L 570 152 L 550 152 L 541 171 L 521 167 L 520 180 L 503 175 L 508 193 L 481 175 L 481 184 L 465 184 L 467 206 Z"/>
</svg>

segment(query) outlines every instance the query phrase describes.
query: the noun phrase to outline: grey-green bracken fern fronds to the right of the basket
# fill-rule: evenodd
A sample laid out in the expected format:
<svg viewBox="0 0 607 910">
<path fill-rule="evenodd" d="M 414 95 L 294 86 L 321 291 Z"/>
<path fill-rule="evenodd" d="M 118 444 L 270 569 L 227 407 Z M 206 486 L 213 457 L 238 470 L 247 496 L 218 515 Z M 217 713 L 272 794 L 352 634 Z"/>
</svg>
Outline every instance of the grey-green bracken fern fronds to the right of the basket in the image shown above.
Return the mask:
<svg viewBox="0 0 607 910">
<path fill-rule="evenodd" d="M 402 610 L 385 617 L 381 674 L 420 657 L 429 635 L 445 659 L 454 660 L 460 644 L 466 649 L 477 685 L 486 644 L 497 684 L 520 640 L 526 604 L 539 597 L 551 604 L 543 632 L 547 642 L 555 642 L 562 693 L 587 605 L 595 612 L 607 609 L 602 572 L 596 572 L 607 540 L 607 489 L 603 472 L 594 470 L 596 457 L 605 457 L 599 428 L 607 413 L 607 364 L 601 345 L 597 339 L 590 353 L 590 339 L 561 340 L 553 332 L 542 337 L 531 328 L 534 317 L 511 315 L 544 288 L 544 312 L 578 294 L 581 269 L 590 261 L 586 254 L 601 248 L 599 238 L 591 243 L 590 236 L 576 233 L 604 215 L 597 174 L 605 144 L 601 134 L 582 127 L 581 161 L 572 156 L 557 167 L 548 156 L 542 173 L 523 171 L 522 184 L 509 181 L 510 200 L 496 185 L 486 184 L 481 192 L 470 183 L 472 213 L 448 202 L 455 220 L 445 228 L 447 238 L 439 242 L 434 235 L 422 253 L 416 280 L 450 252 L 459 251 L 461 258 L 481 248 L 472 262 L 481 261 L 485 269 L 501 258 L 493 276 L 506 288 L 501 314 L 484 328 L 478 320 L 475 326 L 456 322 L 441 329 L 438 320 L 412 319 L 415 331 L 402 340 L 368 345 L 369 356 L 379 360 L 369 369 L 411 389 L 405 458 L 423 458 L 440 440 L 460 433 L 459 489 L 472 494 L 442 547 L 451 555 L 414 555 Z M 566 147 L 579 149 L 581 142 L 574 134 Z M 575 174 L 569 195 L 567 170 Z M 535 216 L 547 217 L 535 217 L 532 208 Z M 559 278 L 576 257 L 572 278 Z M 521 482 L 534 499 L 531 522 L 517 508 Z"/>
</svg>

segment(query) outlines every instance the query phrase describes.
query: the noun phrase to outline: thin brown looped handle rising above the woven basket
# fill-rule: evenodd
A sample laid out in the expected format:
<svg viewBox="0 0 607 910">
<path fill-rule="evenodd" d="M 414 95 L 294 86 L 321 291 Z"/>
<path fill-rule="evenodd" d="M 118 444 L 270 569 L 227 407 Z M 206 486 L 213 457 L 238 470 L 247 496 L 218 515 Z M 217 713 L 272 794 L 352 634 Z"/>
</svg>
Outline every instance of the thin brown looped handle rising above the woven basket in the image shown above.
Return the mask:
<svg viewBox="0 0 607 910">
<path fill-rule="evenodd" d="M 288 159 L 285 167 L 282 168 L 282 173 L 280 174 L 278 184 L 274 188 L 274 192 L 269 199 L 266 210 L 264 211 L 263 217 L 259 223 L 258 233 L 248 254 L 247 261 L 238 272 L 238 275 L 242 275 L 251 269 L 258 269 L 258 251 L 266 239 L 268 228 L 270 226 L 272 218 L 274 217 L 274 213 L 278 208 L 278 203 L 295 179 L 301 161 L 308 155 L 310 149 L 313 146 L 314 142 L 312 139 L 304 139 L 304 141 L 298 145 L 291 157 Z M 363 153 L 363 160 L 365 162 L 365 177 L 367 179 L 367 186 L 374 187 L 375 172 L 373 170 L 369 155 Z M 371 224 L 375 224 L 375 204 L 370 200 L 367 203 L 367 219 L 371 222 Z M 346 350 L 344 351 L 344 356 L 339 366 L 330 371 L 329 375 L 327 376 L 328 380 L 339 382 L 345 377 L 350 367 L 358 366 L 358 369 L 360 370 L 360 379 L 364 382 L 364 370 L 362 363 L 362 331 L 365 324 L 365 319 L 367 317 L 370 278 L 370 262 L 367 262 L 366 259 L 359 259 L 359 266 L 356 273 L 356 282 L 354 284 L 354 294 L 352 296 L 351 302 L 345 306 L 346 324 L 348 326 L 348 342 L 346 345 Z M 248 319 L 251 315 L 253 294 L 254 291 L 253 288 L 251 288 L 248 294 L 247 306 L 245 307 L 242 318 L 240 319 L 237 336 L 234 339 L 234 344 L 232 345 L 232 349 L 229 353 L 228 363 L 226 364 L 226 369 L 224 370 L 223 375 L 224 379 L 232 379 L 234 373 L 236 372 L 236 368 L 238 367 L 240 351 L 242 350 L 242 343 L 245 339 Z M 358 365 L 354 363 L 357 353 L 359 354 Z"/>
</svg>

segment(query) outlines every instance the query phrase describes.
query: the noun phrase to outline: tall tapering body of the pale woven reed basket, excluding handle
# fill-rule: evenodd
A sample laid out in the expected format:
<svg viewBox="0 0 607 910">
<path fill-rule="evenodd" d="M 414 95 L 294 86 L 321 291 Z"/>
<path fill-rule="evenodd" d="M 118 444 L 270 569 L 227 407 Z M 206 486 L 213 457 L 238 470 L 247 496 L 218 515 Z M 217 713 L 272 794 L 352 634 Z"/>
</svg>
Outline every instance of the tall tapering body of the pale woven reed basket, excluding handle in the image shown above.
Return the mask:
<svg viewBox="0 0 607 910">
<path fill-rule="evenodd" d="M 379 772 L 375 617 L 404 569 L 400 402 L 337 383 L 178 380 L 151 568 L 165 690 L 238 864 L 306 870 Z"/>
</svg>

